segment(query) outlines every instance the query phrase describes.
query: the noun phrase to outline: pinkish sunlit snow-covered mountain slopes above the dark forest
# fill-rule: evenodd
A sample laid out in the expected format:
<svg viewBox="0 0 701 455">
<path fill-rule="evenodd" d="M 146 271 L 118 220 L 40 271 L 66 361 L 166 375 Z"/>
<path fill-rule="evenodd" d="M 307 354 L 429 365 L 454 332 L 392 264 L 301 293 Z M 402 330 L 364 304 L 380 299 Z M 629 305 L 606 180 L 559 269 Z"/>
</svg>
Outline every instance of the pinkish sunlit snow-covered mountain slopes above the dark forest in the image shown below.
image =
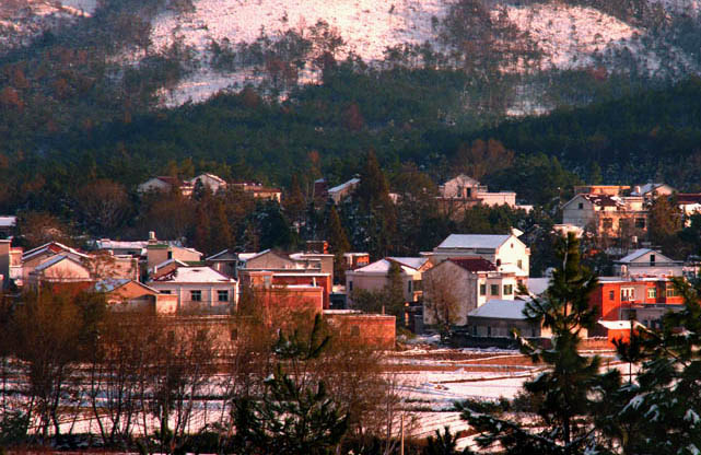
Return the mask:
<svg viewBox="0 0 701 455">
<path fill-rule="evenodd" d="M 429 43 L 433 49 L 449 54 L 445 39 L 441 39 L 442 24 L 458 1 L 179 0 L 180 7 L 185 3 L 186 8 L 167 8 L 166 1 L 151 20 L 151 46 L 147 50 L 125 49 L 114 58 L 138 65 L 147 51 L 167 51 L 174 45 L 187 50 L 192 56 L 192 70 L 160 92 L 162 103 L 179 105 L 203 101 L 222 89 L 258 83 L 261 65 L 212 62 L 222 49 L 234 59 L 242 58 L 241 49 L 265 54 L 265 46 L 273 47 L 289 32 L 311 40 L 315 33 L 340 37 L 342 44 L 334 48 L 336 59 L 353 54 L 375 65 L 385 59 L 388 48 L 402 45 Z M 626 11 L 616 14 L 609 8 L 597 8 L 596 0 L 476 1 L 481 1 L 494 21 L 509 24 L 535 44 L 541 70 L 593 68 L 624 72 L 632 71 L 627 66 L 633 61 L 635 71 L 646 72 L 652 79 L 674 79 L 700 70 L 699 56 L 685 50 L 680 39 L 671 39 L 669 31 L 661 34 L 657 26 L 632 13 L 626 18 Z M 692 22 L 700 18 L 701 0 L 639 1 L 668 23 L 676 18 L 691 18 Z M 25 43 L 58 20 L 92 14 L 98 5 L 97 0 L 2 3 L 0 45 L 4 46 Z M 299 74 L 294 81 L 314 82 L 318 78 L 318 67 L 311 60 L 318 59 L 320 51 L 303 52 L 307 61 L 295 61 Z M 518 70 L 518 65 L 504 68 Z"/>
</svg>

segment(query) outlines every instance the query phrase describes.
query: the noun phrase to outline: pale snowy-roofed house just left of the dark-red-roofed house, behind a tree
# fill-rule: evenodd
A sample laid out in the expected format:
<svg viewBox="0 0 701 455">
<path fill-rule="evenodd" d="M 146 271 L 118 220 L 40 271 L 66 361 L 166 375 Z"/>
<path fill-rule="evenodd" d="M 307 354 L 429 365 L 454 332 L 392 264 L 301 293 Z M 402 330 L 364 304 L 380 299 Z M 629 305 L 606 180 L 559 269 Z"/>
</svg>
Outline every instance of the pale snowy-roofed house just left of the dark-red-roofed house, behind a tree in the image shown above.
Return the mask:
<svg viewBox="0 0 701 455">
<path fill-rule="evenodd" d="M 346 272 L 347 302 L 352 306 L 353 292 L 381 291 L 389 283 L 389 268 L 397 264 L 400 270 L 404 298 L 417 302 L 423 294 L 422 273 L 431 268 L 425 257 L 386 257 L 365 267 Z"/>
</svg>

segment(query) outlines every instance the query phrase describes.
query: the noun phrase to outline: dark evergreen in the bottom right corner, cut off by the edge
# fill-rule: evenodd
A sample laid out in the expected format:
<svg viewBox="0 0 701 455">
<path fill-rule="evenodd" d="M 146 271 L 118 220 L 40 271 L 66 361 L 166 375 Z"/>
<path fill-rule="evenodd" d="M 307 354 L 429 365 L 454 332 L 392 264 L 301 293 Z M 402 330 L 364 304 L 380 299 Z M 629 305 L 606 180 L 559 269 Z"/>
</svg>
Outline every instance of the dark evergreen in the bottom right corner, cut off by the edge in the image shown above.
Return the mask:
<svg viewBox="0 0 701 455">
<path fill-rule="evenodd" d="M 619 357 L 640 365 L 623 385 L 605 390 L 597 425 L 623 454 L 696 454 L 701 448 L 701 282 L 679 279 L 684 310 L 662 329 L 639 326 Z M 620 447 L 620 448 L 619 448 Z"/>
</svg>

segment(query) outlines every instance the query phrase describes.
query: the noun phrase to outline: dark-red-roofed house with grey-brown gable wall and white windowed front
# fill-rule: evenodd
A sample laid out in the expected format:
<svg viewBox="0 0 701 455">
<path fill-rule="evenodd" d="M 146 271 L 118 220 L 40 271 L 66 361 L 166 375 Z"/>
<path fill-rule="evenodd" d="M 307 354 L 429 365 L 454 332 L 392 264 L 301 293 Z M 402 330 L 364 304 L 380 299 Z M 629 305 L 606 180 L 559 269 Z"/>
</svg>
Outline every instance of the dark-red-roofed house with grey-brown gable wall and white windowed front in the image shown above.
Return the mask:
<svg viewBox="0 0 701 455">
<path fill-rule="evenodd" d="M 468 314 L 490 300 L 513 301 L 518 281 L 515 273 L 500 272 L 481 257 L 454 257 L 423 273 L 423 324 L 432 326 L 448 317 L 465 326 Z"/>
</svg>

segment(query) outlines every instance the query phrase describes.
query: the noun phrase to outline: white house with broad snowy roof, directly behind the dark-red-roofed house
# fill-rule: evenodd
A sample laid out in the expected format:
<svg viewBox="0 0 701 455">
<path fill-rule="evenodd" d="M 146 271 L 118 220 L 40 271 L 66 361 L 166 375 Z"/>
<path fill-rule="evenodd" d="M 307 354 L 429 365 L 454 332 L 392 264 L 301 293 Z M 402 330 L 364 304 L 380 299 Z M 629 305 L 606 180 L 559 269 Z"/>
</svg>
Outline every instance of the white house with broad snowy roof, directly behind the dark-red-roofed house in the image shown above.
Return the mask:
<svg viewBox="0 0 701 455">
<path fill-rule="evenodd" d="M 492 262 L 498 271 L 513 271 L 528 278 L 530 248 L 513 234 L 451 234 L 428 253 L 433 264 L 449 258 L 478 256 Z"/>
</svg>

